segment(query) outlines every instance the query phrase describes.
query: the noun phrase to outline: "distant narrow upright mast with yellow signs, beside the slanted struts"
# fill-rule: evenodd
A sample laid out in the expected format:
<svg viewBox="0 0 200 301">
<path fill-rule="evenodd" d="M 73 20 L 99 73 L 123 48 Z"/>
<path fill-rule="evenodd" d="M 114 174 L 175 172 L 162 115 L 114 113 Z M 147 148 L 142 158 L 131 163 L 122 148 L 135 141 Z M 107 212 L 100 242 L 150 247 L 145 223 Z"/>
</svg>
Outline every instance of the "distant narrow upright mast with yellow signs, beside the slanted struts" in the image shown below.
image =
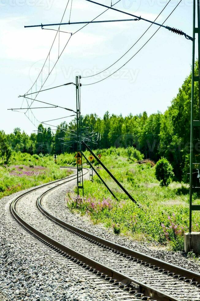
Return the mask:
<svg viewBox="0 0 200 301">
<path fill-rule="evenodd" d="M 77 126 L 77 195 L 80 190 L 83 191 L 83 165 L 82 165 L 82 153 L 81 153 L 81 101 L 80 101 L 80 79 L 81 76 L 76 76 L 76 126 Z"/>
</svg>

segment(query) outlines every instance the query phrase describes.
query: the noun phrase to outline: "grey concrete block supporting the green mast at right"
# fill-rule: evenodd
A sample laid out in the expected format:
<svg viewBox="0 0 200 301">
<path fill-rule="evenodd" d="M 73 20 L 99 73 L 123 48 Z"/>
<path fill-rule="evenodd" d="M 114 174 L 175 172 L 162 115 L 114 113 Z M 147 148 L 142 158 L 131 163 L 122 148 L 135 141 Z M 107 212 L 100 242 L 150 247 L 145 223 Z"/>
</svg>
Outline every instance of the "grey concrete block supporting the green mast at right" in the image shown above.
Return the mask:
<svg viewBox="0 0 200 301">
<path fill-rule="evenodd" d="M 200 255 L 200 232 L 184 234 L 184 251 L 188 253 L 193 250 L 196 255 Z"/>
</svg>

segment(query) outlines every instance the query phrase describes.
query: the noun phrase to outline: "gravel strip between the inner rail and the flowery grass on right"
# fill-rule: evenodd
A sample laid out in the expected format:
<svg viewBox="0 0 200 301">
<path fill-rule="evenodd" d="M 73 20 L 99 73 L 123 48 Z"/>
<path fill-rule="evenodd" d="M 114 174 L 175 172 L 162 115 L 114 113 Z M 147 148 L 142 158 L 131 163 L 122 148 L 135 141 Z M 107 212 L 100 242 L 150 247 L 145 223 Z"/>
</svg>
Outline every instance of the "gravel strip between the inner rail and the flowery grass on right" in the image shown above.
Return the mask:
<svg viewBox="0 0 200 301">
<path fill-rule="evenodd" d="M 183 256 L 181 252 L 166 251 L 163 250 L 163 248 L 161 249 L 158 244 L 153 245 L 146 241 L 138 242 L 127 236 L 116 235 L 112 229 L 108 229 L 103 225 L 93 225 L 86 216 L 72 213 L 67 207 L 66 194 L 73 191 L 73 186 L 70 185 L 67 187 L 61 186 L 58 189 L 53 190 L 44 198 L 42 203 L 43 207 L 63 221 L 87 232 L 171 264 L 181 266 L 182 268 L 190 269 L 198 273 L 200 272 L 200 265 L 198 262 Z"/>
</svg>

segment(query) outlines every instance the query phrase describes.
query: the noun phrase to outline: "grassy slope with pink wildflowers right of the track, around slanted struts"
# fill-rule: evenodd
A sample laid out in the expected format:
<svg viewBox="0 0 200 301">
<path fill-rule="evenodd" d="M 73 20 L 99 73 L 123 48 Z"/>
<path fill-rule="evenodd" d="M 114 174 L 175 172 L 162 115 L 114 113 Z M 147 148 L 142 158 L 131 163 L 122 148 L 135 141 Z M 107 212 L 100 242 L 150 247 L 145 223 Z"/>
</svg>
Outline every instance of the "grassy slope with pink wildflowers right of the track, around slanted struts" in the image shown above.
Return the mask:
<svg viewBox="0 0 200 301">
<path fill-rule="evenodd" d="M 89 154 L 88 154 L 89 155 Z M 155 177 L 155 166 L 150 163 L 138 164 L 140 157 L 127 153 L 124 149 L 102 151 L 102 162 L 137 204 L 128 199 L 108 174 L 100 169 L 100 175 L 115 193 L 116 201 L 97 176 L 94 182 L 84 182 L 85 198 L 68 195 L 68 206 L 87 214 L 95 224 L 103 223 L 114 233 L 129 235 L 170 246 L 174 251 L 183 250 L 183 233 L 188 231 L 189 188 L 187 184 L 172 182 L 161 187 Z M 200 203 L 194 193 L 194 202 Z M 193 231 L 200 230 L 198 212 L 193 213 Z"/>
</svg>

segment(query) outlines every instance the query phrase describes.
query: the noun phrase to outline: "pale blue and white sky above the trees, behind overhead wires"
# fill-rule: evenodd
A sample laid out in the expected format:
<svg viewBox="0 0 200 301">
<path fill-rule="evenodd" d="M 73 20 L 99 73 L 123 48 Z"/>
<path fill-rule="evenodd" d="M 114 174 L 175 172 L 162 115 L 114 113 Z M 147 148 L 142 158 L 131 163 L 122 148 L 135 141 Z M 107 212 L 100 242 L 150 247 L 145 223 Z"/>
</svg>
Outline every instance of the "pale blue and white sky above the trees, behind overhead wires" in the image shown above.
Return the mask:
<svg viewBox="0 0 200 301">
<path fill-rule="evenodd" d="M 42 30 L 41 27 L 24 28 L 24 26 L 59 23 L 67 2 L 68 0 L 0 0 L 2 99 L 0 129 L 10 133 L 15 127 L 20 127 L 30 134 L 36 130 L 38 122 L 71 115 L 71 112 L 60 108 L 32 109 L 38 121 L 29 110 L 26 114 L 29 114 L 31 122 L 24 114 L 26 110 L 16 112 L 8 109 L 27 108 L 31 100 L 18 96 L 27 93 L 32 86 L 32 92 L 38 91 L 46 79 L 42 89 L 75 82 L 77 75 L 82 76 L 82 115 L 96 113 L 102 118 L 106 111 L 123 116 L 130 113 L 136 115 L 143 111 L 147 111 L 148 115 L 157 111 L 164 112 L 189 75 L 192 42 L 184 36 L 161 28 L 142 50 L 113 76 L 97 84 L 86 85 L 105 78 L 124 65 L 145 44 L 158 26 L 152 25 L 142 39 L 107 71 L 84 78 L 99 73 L 117 61 L 145 32 L 149 23 L 140 20 L 89 24 L 72 36 L 70 33 L 74 33 L 82 25 L 62 25 L 60 30 L 65 32 L 60 33 L 59 41 L 57 35 L 48 57 L 56 31 Z M 96 2 L 111 5 L 109 0 L 96 0 Z M 167 2 L 168 0 L 121 0 L 113 7 L 153 21 Z M 178 2 L 171 0 L 157 22 L 164 22 Z M 182 0 L 164 25 L 181 29 L 192 36 L 192 2 Z M 112 5 L 114 3 L 112 2 Z M 72 3 L 69 0 L 62 22 L 69 22 L 69 16 L 70 22 L 91 21 L 104 10 L 105 8 L 86 0 L 72 0 Z M 108 10 L 96 20 L 129 18 L 132 17 Z M 58 26 L 45 28 L 57 30 Z M 63 50 L 68 39 L 69 42 Z M 42 76 L 40 74 L 37 83 L 34 84 L 47 57 Z M 55 68 L 48 76 L 54 65 Z M 34 94 L 29 97 L 32 96 Z M 63 86 L 40 92 L 36 100 L 75 110 L 75 86 Z M 40 106 L 43 106 L 40 102 L 34 101 L 32 104 L 32 108 Z M 69 122 L 72 118 L 74 117 L 47 123 L 56 126 L 61 121 Z"/>
</svg>

